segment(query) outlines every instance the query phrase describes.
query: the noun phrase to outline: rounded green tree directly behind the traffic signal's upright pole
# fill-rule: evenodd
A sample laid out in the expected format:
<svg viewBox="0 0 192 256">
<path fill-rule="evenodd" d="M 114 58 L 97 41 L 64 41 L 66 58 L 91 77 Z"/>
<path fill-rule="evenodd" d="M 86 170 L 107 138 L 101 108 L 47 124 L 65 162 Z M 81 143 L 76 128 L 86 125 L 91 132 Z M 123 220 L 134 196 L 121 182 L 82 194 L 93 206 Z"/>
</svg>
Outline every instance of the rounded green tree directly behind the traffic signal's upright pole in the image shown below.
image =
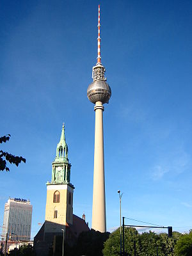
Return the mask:
<svg viewBox="0 0 192 256">
<path fill-rule="evenodd" d="M 140 235 L 135 228 L 125 227 L 125 252 L 134 255 L 134 243 L 136 244 L 136 255 L 140 253 Z M 120 228 L 116 229 L 104 243 L 104 256 L 120 255 Z"/>
</svg>

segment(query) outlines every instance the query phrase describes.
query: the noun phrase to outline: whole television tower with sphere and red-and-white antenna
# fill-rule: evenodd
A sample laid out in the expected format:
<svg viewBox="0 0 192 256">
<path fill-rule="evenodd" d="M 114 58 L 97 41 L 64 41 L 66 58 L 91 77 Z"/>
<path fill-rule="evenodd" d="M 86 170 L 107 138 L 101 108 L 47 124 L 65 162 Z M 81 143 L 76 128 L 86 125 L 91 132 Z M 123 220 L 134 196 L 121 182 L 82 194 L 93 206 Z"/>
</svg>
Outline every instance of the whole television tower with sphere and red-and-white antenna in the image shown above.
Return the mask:
<svg viewBox="0 0 192 256">
<path fill-rule="evenodd" d="M 100 6 L 98 15 L 97 63 L 93 67 L 93 82 L 88 86 L 87 97 L 95 104 L 95 152 L 93 174 L 92 228 L 106 232 L 106 196 L 104 179 L 103 118 L 104 103 L 111 97 L 111 88 L 104 77 L 105 68 L 100 57 Z"/>
</svg>

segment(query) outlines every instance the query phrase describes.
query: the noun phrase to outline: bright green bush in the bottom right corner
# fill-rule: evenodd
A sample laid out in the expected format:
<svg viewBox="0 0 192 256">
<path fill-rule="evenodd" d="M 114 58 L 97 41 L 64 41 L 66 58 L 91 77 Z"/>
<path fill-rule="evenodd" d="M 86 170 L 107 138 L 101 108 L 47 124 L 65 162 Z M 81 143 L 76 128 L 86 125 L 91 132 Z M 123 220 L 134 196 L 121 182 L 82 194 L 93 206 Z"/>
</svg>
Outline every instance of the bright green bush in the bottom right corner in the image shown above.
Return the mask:
<svg viewBox="0 0 192 256">
<path fill-rule="evenodd" d="M 184 234 L 179 237 L 175 246 L 175 255 L 191 256 L 192 255 L 192 230 L 189 234 Z"/>
</svg>

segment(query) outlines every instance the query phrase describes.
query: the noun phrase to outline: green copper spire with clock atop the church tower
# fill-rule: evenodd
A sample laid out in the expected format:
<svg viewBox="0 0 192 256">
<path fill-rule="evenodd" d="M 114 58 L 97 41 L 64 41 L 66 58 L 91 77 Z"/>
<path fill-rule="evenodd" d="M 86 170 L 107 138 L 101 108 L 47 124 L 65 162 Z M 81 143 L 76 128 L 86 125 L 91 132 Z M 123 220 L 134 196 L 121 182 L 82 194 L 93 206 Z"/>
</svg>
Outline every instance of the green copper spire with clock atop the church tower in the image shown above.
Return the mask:
<svg viewBox="0 0 192 256">
<path fill-rule="evenodd" d="M 68 162 L 68 147 L 65 141 L 65 125 L 63 123 L 60 142 L 57 145 L 56 157 L 52 162 L 52 179 L 47 184 L 70 184 L 70 167 Z"/>
</svg>

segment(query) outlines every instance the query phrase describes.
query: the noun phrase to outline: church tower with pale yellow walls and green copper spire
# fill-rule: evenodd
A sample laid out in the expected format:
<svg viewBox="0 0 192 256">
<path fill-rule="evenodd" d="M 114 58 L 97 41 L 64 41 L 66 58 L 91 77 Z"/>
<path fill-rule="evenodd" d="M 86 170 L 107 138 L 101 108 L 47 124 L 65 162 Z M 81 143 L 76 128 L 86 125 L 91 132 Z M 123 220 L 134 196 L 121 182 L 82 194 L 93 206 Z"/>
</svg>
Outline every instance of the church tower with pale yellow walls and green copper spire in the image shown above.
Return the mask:
<svg viewBox="0 0 192 256">
<path fill-rule="evenodd" d="M 47 182 L 47 202 L 45 210 L 45 240 L 51 239 L 73 224 L 73 192 L 70 183 L 70 167 L 68 147 L 65 141 L 65 125 L 63 124 L 60 142 L 56 148 L 56 157 L 52 162 L 52 179 Z"/>
</svg>

